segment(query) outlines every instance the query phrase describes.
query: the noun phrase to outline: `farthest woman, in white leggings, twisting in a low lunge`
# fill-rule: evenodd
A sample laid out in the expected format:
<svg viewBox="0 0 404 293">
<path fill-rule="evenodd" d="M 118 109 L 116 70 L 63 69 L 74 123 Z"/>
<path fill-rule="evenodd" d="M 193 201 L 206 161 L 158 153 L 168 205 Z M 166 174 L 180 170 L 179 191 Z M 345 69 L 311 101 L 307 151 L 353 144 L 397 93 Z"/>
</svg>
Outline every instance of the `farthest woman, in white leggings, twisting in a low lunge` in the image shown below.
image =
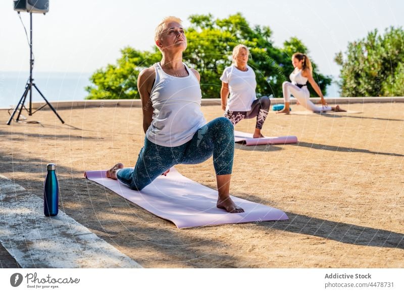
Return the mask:
<svg viewBox="0 0 404 293">
<path fill-rule="evenodd" d="M 282 111 L 277 113 L 289 114 L 290 107 L 290 95 L 308 110 L 313 112 L 325 112 L 325 111 L 335 111 L 335 112 L 345 112 L 338 105 L 336 107 L 330 107 L 324 99 L 323 93 L 320 90 L 319 85 L 313 79 L 312 76 L 312 63 L 306 54 L 294 53 L 292 55 L 292 64 L 294 66 L 293 72 L 290 74 L 289 78 L 291 83 L 284 82 L 282 84 L 283 99 L 285 102 L 285 107 Z M 310 82 L 313 89 L 321 98 L 321 106 L 316 106 L 310 101 L 310 92 L 307 88 L 307 82 Z"/>
</svg>

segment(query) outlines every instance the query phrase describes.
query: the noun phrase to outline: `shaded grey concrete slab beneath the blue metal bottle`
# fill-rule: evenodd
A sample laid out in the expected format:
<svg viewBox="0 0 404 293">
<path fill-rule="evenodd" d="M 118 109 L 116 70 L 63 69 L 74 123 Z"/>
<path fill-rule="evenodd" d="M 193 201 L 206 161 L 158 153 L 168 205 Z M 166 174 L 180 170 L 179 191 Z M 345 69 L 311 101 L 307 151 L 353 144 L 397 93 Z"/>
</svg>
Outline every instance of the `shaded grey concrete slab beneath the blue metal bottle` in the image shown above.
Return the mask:
<svg viewBox="0 0 404 293">
<path fill-rule="evenodd" d="M 141 268 L 59 210 L 0 175 L 0 242 L 22 268 Z"/>
</svg>

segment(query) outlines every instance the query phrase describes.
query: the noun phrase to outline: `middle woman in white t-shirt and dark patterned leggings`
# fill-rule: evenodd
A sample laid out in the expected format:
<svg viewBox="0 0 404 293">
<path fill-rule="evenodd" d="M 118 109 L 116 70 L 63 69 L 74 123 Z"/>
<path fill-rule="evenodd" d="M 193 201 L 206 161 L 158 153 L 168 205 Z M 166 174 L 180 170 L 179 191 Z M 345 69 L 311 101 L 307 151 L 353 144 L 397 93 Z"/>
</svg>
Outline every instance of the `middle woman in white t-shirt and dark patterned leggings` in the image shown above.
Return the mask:
<svg viewBox="0 0 404 293">
<path fill-rule="evenodd" d="M 222 109 L 225 117 L 235 125 L 242 119 L 257 117 L 256 129 L 253 137 L 264 137 L 261 133 L 264 121 L 267 118 L 271 101 L 264 96 L 257 99 L 256 75 L 247 65 L 249 50 L 245 45 L 237 45 L 233 49 L 233 64 L 226 67 L 220 80 L 222 89 Z M 230 98 L 227 100 L 227 97 Z"/>
</svg>

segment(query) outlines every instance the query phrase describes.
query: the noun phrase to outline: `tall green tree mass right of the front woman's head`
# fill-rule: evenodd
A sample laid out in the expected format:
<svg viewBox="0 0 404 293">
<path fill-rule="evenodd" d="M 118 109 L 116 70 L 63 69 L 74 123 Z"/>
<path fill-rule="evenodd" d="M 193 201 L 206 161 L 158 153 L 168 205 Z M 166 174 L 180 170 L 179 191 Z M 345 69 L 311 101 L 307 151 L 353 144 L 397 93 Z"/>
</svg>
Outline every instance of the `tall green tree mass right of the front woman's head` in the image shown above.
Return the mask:
<svg viewBox="0 0 404 293">
<path fill-rule="evenodd" d="M 308 53 L 297 38 L 285 42 L 282 49 L 274 47 L 271 29 L 267 26 L 251 28 L 240 13 L 216 20 L 212 15 L 192 15 L 189 20 L 191 26 L 187 31 L 188 48 L 184 60 L 200 72 L 201 89 L 206 98 L 220 97 L 219 78 L 224 68 L 231 64 L 232 50 L 237 44 L 250 48 L 248 63 L 256 72 L 259 96 L 282 97 L 282 83 L 293 71 L 291 55 L 297 51 Z M 314 62 L 313 65 L 316 69 Z M 331 79 L 317 70 L 314 74 L 325 94 Z M 310 90 L 313 96 L 318 96 Z"/>
</svg>

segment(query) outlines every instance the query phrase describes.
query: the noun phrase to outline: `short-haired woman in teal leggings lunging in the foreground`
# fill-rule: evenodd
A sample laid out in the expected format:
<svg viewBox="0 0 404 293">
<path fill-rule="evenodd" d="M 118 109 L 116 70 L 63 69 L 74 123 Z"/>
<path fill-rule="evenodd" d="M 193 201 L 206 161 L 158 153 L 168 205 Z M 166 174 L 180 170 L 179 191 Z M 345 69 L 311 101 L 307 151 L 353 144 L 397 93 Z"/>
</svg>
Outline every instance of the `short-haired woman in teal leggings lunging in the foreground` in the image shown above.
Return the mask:
<svg viewBox="0 0 404 293">
<path fill-rule="evenodd" d="M 198 164 L 213 155 L 217 207 L 243 212 L 229 196 L 234 128 L 225 117 L 207 124 L 200 111 L 200 76 L 182 62 L 187 42 L 181 20 L 165 18 L 156 28 L 155 42 L 163 58 L 142 70 L 137 81 L 146 133 L 144 146 L 134 169 L 124 169 L 118 163 L 107 176 L 141 190 L 176 164 Z"/>
</svg>

